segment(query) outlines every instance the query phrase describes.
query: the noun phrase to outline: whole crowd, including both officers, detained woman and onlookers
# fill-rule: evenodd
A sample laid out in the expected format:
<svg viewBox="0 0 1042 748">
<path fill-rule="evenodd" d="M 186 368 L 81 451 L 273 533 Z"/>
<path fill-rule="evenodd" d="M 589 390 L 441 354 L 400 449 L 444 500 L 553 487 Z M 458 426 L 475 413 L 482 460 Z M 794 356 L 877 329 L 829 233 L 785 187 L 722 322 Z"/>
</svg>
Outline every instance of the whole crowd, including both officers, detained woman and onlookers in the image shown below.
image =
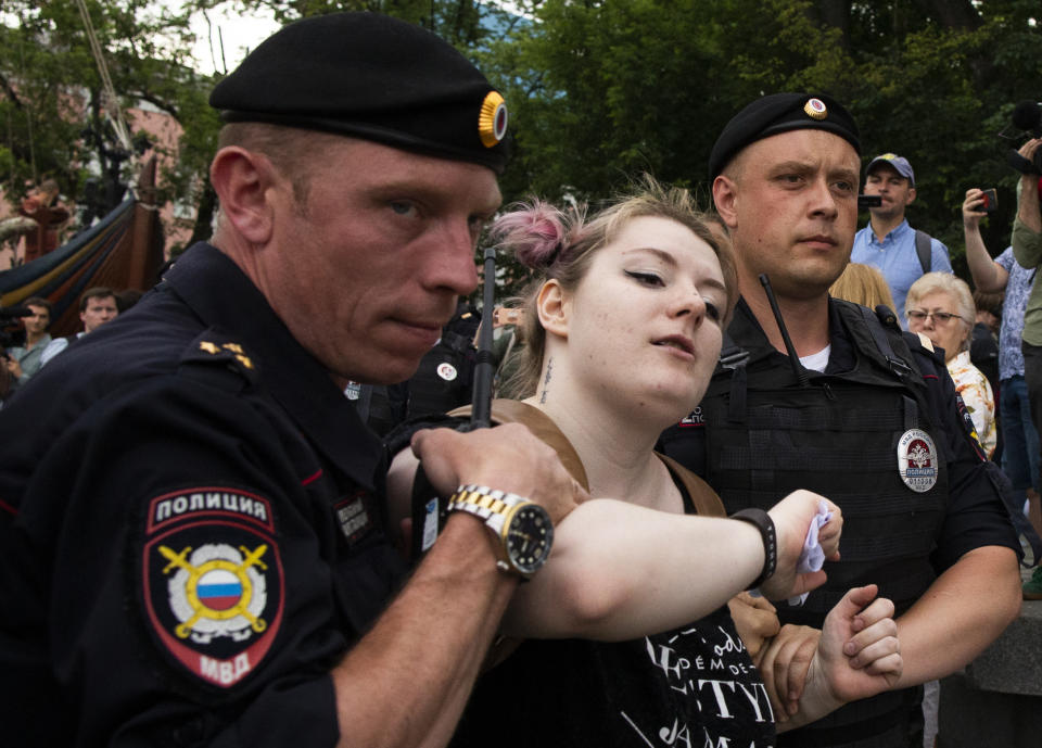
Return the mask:
<svg viewBox="0 0 1042 748">
<path fill-rule="evenodd" d="M 968 362 L 969 289 L 904 219 L 906 159 L 868 162 L 880 200 L 859 231 L 856 122 L 825 94 L 775 93 L 716 139 L 712 213 L 651 177 L 599 212 L 500 213 L 503 96 L 376 13 L 283 27 L 211 105 L 211 240 L 126 314 L 85 293 L 74 340 L 48 341 L 49 305 L 26 300 L 9 351 L 9 734 L 931 739 L 923 684 L 973 660 L 1028 592 L 1013 489 L 989 459 L 994 393 Z M 1024 267 L 1042 262 L 1038 199 L 1025 177 Z M 444 356 L 469 351 L 459 302 L 490 223 L 532 270 L 511 317 L 516 397 L 492 403 L 493 428 L 415 408 L 381 439 L 378 389 L 390 403 L 418 369 L 462 376 L 470 359 Z M 852 251 L 881 275 L 851 271 Z M 1002 459 L 1037 492 L 1042 292 L 975 252 L 981 290 L 1025 289 L 1000 398 L 1019 376 L 1031 417 L 1012 400 L 1006 436 L 1003 406 Z M 839 297 L 844 275 L 869 306 Z"/>
</svg>

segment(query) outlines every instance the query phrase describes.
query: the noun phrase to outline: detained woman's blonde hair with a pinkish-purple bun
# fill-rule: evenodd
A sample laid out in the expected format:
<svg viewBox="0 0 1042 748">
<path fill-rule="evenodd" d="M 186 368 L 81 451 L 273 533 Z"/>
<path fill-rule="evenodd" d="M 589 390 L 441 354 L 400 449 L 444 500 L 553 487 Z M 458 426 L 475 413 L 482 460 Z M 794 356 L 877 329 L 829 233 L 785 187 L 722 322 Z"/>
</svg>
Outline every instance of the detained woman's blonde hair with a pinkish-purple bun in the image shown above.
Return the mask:
<svg viewBox="0 0 1042 748">
<path fill-rule="evenodd" d="M 609 244 L 634 218 L 661 217 L 675 220 L 704 241 L 720 262 L 727 290 L 722 327 L 726 327 L 738 302 L 738 276 L 729 241 L 710 229 L 711 218 L 698 210 L 690 192 L 660 185 L 649 175 L 630 193 L 586 218 L 586 205 L 558 208 L 539 200 L 511 205 L 492 227 L 492 238 L 519 262 L 535 270 L 521 296 L 524 321 L 520 329 L 524 347 L 518 352 L 517 370 L 504 384 L 504 394 L 528 397 L 535 393 L 543 370 L 546 331 L 539 324 L 536 299 L 548 279 L 573 291 L 586 276 L 596 253 Z"/>
</svg>

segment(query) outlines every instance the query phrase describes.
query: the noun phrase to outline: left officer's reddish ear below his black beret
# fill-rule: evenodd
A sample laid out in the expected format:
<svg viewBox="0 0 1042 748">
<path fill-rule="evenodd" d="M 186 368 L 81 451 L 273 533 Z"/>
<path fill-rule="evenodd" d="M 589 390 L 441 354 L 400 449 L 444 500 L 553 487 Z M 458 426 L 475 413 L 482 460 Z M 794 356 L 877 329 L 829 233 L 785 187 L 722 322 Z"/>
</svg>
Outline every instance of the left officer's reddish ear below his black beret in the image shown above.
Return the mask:
<svg viewBox="0 0 1042 748">
<path fill-rule="evenodd" d="M 263 153 L 223 148 L 209 166 L 209 180 L 226 219 L 249 243 L 268 242 L 275 224 L 270 188 L 278 175 Z"/>
</svg>

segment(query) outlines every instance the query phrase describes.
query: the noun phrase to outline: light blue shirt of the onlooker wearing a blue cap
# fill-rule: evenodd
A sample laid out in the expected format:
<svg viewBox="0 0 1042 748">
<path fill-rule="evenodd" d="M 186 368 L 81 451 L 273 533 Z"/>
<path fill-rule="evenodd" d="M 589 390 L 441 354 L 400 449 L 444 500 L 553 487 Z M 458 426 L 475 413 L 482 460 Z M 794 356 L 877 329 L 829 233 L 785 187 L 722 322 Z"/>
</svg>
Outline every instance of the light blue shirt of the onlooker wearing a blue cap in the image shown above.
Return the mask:
<svg viewBox="0 0 1042 748">
<path fill-rule="evenodd" d="M 948 256 L 948 248 L 937 239 L 930 238 L 930 270 L 935 272 L 951 272 L 952 261 Z M 919 255 L 915 252 L 915 229 L 908 226 L 907 220 L 890 233 L 876 239 L 872 224 L 854 234 L 854 249 L 850 253 L 850 262 L 872 265 L 882 272 L 893 294 L 893 303 L 898 305 L 894 312 L 901 326 L 907 329 L 908 320 L 904 318 L 904 300 L 908 295 L 912 283 L 923 276 L 923 266 Z"/>
</svg>

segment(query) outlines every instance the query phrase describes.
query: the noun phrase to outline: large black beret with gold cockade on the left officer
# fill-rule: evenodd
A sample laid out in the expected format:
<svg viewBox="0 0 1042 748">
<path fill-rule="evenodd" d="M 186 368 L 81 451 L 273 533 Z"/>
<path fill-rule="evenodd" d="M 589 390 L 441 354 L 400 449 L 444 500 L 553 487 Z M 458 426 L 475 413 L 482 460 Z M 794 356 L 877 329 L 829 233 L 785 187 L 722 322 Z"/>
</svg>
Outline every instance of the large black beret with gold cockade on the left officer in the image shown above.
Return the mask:
<svg viewBox="0 0 1042 748">
<path fill-rule="evenodd" d="M 333 13 L 284 26 L 217 84 L 225 122 L 262 122 L 374 140 L 501 173 L 503 97 L 462 54 L 420 26 Z"/>
</svg>

